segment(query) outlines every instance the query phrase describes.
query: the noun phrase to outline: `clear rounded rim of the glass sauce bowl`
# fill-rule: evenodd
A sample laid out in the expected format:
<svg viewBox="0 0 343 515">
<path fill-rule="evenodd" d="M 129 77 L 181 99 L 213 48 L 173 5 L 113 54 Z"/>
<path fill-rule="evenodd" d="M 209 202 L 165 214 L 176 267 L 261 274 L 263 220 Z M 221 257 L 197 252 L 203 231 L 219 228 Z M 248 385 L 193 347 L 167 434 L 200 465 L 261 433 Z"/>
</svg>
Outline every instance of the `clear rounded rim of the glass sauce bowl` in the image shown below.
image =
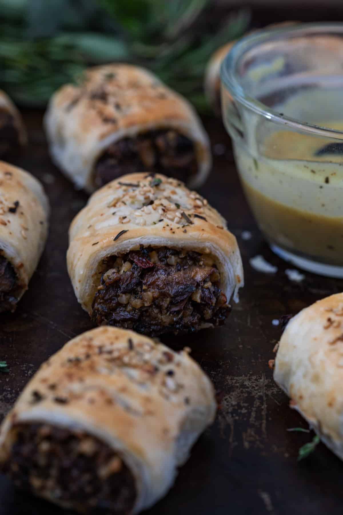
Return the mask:
<svg viewBox="0 0 343 515">
<path fill-rule="evenodd" d="M 296 118 L 280 116 L 278 111 L 274 111 L 270 107 L 262 104 L 262 102 L 256 98 L 247 95 L 241 84 L 239 84 L 239 81 L 235 75 L 237 61 L 248 49 L 254 46 L 258 46 L 268 40 L 280 40 L 282 39 L 282 36 L 288 39 L 288 36 L 293 35 L 296 32 L 299 32 L 302 36 L 306 36 L 314 32 L 322 32 L 324 34 L 341 32 L 343 40 L 343 23 L 299 23 L 295 24 L 294 26 L 292 25 L 281 28 L 261 29 L 249 36 L 245 36 L 233 45 L 221 63 L 220 80 L 222 88 L 226 88 L 237 102 L 243 104 L 246 108 L 254 111 L 255 113 L 264 116 L 272 122 L 286 125 L 288 127 L 294 128 L 296 131 L 301 130 L 321 136 L 327 136 L 327 138 L 330 139 L 343 140 L 343 131 L 308 124 Z M 223 116 L 225 116 L 224 113 Z"/>
</svg>

